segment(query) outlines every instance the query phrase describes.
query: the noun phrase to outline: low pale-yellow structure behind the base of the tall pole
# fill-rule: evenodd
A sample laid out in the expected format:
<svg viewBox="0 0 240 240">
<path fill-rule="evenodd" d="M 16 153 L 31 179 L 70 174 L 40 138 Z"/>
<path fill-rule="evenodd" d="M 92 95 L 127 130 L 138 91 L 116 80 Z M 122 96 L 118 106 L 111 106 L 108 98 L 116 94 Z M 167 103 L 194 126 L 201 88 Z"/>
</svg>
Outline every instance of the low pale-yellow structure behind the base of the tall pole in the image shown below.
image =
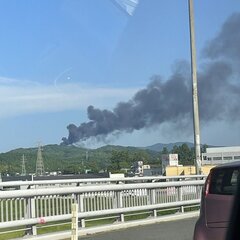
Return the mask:
<svg viewBox="0 0 240 240">
<path fill-rule="evenodd" d="M 210 170 L 216 165 L 205 165 L 201 167 L 202 174 L 208 175 Z M 178 175 L 194 175 L 196 173 L 195 166 L 167 166 L 166 167 L 166 176 L 178 176 Z"/>
</svg>

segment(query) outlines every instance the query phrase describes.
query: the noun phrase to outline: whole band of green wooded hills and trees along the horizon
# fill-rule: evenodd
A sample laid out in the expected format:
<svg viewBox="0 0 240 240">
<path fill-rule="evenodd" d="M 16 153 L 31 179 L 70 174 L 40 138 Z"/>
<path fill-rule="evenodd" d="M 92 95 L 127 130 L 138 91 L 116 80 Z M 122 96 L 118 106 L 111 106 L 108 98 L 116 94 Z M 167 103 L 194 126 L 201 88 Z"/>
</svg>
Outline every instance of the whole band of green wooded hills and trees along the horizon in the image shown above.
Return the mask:
<svg viewBox="0 0 240 240">
<path fill-rule="evenodd" d="M 152 146 L 146 148 L 123 147 L 107 145 L 98 149 L 86 149 L 76 146 L 45 145 L 42 148 L 44 168 L 47 172 L 61 171 L 68 173 L 83 173 L 111 171 L 119 172 L 129 169 L 133 162 L 143 161 L 144 164 L 161 165 L 161 154 L 178 153 L 180 164 L 192 164 L 194 151 L 188 144 L 170 144 L 155 150 Z M 158 145 L 159 146 L 159 145 Z M 25 156 L 27 173 L 35 173 L 38 148 L 19 148 L 0 154 L 0 173 L 21 173 L 22 156 Z"/>
</svg>

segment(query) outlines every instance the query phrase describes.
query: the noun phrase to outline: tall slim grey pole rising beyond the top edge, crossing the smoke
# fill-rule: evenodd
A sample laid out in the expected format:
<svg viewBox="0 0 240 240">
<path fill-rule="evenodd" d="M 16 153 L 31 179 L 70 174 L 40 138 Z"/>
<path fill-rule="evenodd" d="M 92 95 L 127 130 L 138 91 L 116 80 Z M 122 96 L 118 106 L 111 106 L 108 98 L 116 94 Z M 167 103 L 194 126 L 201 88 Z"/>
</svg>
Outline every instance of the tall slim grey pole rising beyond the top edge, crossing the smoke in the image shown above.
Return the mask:
<svg viewBox="0 0 240 240">
<path fill-rule="evenodd" d="M 193 101 L 193 127 L 195 146 L 195 168 L 196 174 L 201 173 L 201 149 L 200 149 L 200 124 L 198 110 L 198 90 L 197 90 L 197 63 L 194 31 L 193 0 L 188 0 L 189 25 L 190 25 L 190 45 L 191 45 L 191 75 L 192 75 L 192 101 Z"/>
</svg>

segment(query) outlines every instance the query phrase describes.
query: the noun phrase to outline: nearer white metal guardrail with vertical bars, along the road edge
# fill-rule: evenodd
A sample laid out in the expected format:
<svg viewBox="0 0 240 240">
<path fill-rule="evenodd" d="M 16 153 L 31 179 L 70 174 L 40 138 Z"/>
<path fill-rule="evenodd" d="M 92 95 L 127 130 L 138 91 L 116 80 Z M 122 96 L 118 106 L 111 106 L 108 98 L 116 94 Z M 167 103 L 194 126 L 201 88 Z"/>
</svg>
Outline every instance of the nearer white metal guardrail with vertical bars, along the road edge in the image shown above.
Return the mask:
<svg viewBox="0 0 240 240">
<path fill-rule="evenodd" d="M 0 229 L 27 227 L 26 234 L 37 235 L 39 224 L 70 220 L 72 203 L 79 205 L 82 228 L 85 220 L 96 217 L 115 216 L 124 222 L 125 214 L 138 211 L 157 217 L 161 209 L 183 211 L 184 206 L 199 204 L 203 184 L 189 180 L 1 191 Z"/>
</svg>

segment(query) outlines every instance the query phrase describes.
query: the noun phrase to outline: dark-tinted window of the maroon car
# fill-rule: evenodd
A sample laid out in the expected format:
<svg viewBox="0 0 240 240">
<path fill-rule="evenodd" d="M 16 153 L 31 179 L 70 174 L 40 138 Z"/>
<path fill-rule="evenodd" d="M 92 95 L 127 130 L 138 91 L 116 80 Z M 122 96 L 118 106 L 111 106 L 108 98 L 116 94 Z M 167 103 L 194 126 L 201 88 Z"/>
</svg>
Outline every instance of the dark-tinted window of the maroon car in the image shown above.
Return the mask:
<svg viewBox="0 0 240 240">
<path fill-rule="evenodd" d="M 216 169 L 212 172 L 210 194 L 233 195 L 237 189 L 239 168 Z"/>
</svg>

